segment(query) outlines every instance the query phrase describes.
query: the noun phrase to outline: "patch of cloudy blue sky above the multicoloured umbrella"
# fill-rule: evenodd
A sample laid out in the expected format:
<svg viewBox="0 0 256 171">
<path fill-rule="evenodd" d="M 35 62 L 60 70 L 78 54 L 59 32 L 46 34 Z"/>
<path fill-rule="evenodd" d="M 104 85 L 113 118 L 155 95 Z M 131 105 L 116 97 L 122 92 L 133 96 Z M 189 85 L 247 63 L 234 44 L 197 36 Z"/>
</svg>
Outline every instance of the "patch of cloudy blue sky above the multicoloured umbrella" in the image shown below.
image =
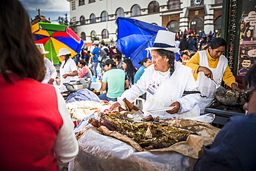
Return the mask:
<svg viewBox="0 0 256 171">
<path fill-rule="evenodd" d="M 2 1 L 2 0 L 1 0 Z M 8 0 L 6 0 L 8 1 Z M 30 18 L 35 19 L 38 12 L 36 8 L 40 9 L 41 15 L 48 19 L 50 17 L 52 23 L 57 23 L 58 17 L 65 17 L 68 14 L 68 21 L 70 18 L 69 2 L 66 0 L 19 0 L 26 8 Z"/>
</svg>

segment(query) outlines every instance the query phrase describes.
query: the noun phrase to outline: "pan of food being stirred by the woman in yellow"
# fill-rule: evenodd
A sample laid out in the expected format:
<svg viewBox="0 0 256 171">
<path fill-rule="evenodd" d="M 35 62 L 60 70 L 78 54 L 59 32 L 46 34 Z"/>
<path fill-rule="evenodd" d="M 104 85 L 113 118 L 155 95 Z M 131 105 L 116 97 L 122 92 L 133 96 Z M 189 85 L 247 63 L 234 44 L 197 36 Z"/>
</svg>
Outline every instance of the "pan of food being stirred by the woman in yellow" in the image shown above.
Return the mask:
<svg viewBox="0 0 256 171">
<path fill-rule="evenodd" d="M 244 105 L 244 103 L 246 103 L 243 94 L 235 94 L 232 90 L 228 90 L 226 96 L 221 96 L 216 93 L 216 99 L 223 105 Z"/>
</svg>

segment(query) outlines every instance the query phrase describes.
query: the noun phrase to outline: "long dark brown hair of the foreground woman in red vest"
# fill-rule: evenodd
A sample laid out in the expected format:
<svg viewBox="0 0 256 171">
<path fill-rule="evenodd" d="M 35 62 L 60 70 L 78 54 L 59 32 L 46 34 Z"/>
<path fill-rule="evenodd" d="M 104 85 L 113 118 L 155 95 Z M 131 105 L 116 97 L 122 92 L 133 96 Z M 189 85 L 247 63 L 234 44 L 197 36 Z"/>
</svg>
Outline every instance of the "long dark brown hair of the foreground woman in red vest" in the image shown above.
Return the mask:
<svg viewBox="0 0 256 171">
<path fill-rule="evenodd" d="M 12 83 L 10 70 L 19 78 L 42 81 L 44 58 L 35 46 L 26 10 L 17 0 L 0 1 L 0 72 Z"/>
</svg>

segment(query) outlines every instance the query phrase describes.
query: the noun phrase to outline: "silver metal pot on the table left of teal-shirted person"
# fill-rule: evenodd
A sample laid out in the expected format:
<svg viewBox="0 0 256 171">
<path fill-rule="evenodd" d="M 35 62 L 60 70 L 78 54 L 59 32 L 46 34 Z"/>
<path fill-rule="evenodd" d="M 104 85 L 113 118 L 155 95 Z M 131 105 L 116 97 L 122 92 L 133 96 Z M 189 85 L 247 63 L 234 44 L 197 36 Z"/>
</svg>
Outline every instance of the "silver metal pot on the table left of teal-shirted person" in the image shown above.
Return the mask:
<svg viewBox="0 0 256 171">
<path fill-rule="evenodd" d="M 77 90 L 80 90 L 83 88 L 89 89 L 91 87 L 91 78 L 88 77 L 84 79 L 84 81 L 71 81 L 68 83 L 63 83 L 63 85 L 66 86 L 66 89 L 70 92 L 76 92 Z"/>
</svg>

